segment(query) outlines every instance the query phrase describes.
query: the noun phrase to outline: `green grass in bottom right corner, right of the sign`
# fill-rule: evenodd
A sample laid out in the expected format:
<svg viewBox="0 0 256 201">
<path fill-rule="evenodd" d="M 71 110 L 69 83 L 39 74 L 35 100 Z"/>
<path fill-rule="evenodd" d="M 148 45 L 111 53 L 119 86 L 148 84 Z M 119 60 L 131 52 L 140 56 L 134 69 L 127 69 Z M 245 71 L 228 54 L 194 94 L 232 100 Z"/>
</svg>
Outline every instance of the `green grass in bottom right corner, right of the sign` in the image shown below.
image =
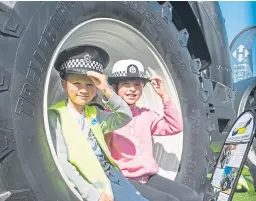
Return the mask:
<svg viewBox="0 0 256 201">
<path fill-rule="evenodd" d="M 250 172 L 247 168 L 243 169 L 242 175 L 245 178 L 252 181 L 251 174 L 250 174 Z M 249 182 L 247 182 L 247 183 L 248 183 L 248 186 L 249 186 L 250 190 L 248 192 L 245 192 L 245 193 L 238 193 L 238 192 L 235 193 L 232 201 L 255 201 L 256 200 L 256 192 L 254 192 L 253 185 L 250 184 Z"/>
</svg>

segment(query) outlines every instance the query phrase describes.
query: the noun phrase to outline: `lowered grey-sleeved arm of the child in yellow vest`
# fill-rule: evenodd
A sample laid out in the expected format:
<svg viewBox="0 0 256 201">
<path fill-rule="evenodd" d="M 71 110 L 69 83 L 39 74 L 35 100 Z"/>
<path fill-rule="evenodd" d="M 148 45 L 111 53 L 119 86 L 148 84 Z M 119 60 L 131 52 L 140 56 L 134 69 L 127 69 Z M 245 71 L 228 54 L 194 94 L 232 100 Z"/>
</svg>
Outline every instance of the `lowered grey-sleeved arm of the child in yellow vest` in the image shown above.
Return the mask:
<svg viewBox="0 0 256 201">
<path fill-rule="evenodd" d="M 58 115 L 49 112 L 49 126 L 52 136 L 53 145 L 57 153 L 59 162 L 69 180 L 76 186 L 80 195 L 87 201 L 98 201 L 101 192 L 97 190 L 92 184 L 88 183 L 76 170 L 76 168 L 68 162 L 68 151 L 61 134 L 61 126 Z"/>
</svg>

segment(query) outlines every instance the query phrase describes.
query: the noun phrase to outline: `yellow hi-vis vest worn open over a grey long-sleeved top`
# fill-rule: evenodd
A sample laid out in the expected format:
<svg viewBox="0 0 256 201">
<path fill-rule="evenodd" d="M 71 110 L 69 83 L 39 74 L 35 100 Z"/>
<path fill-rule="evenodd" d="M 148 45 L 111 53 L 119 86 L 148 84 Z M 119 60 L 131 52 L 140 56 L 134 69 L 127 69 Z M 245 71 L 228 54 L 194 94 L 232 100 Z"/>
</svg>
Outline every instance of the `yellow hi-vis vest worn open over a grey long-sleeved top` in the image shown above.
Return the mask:
<svg viewBox="0 0 256 201">
<path fill-rule="evenodd" d="M 57 111 L 60 115 L 62 135 L 67 145 L 69 162 L 73 164 L 80 174 L 83 175 L 89 183 L 94 185 L 95 188 L 113 196 L 110 181 L 94 154 L 91 145 L 87 141 L 85 134 L 82 132 L 79 124 L 73 118 L 72 114 L 68 111 L 66 101 L 60 101 L 49 109 Z M 96 119 L 96 107 L 85 105 L 85 114 L 88 119 L 90 129 L 96 137 L 102 151 L 110 164 L 118 169 L 113 159 L 110 157 L 109 149 L 104 140 L 104 134 Z"/>
</svg>

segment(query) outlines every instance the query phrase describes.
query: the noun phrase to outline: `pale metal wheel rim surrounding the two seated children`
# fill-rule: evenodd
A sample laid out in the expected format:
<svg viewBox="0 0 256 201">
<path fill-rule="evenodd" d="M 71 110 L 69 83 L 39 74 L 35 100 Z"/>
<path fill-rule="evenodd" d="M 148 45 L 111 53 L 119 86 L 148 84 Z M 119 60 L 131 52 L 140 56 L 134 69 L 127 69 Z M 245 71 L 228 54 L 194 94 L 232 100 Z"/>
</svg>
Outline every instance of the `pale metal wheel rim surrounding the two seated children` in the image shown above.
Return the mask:
<svg viewBox="0 0 256 201">
<path fill-rule="evenodd" d="M 128 38 L 130 38 L 130 40 L 128 40 Z M 145 67 L 150 66 L 150 68 L 147 69 L 147 75 L 150 76 L 157 73 L 163 77 L 167 93 L 172 98 L 175 106 L 181 110 L 177 90 L 171 74 L 167 70 L 167 67 L 160 54 L 141 33 L 126 23 L 109 18 L 96 18 L 79 24 L 65 35 L 56 48 L 49 64 L 49 70 L 46 75 L 44 87 L 43 107 L 46 136 L 55 163 L 66 181 L 68 180 L 65 174 L 63 174 L 51 141 L 47 108 L 57 100 L 63 98 L 63 96 L 61 96 L 61 94 L 63 95 L 60 84 L 61 82 L 58 74 L 53 68 L 57 55 L 65 48 L 81 44 L 97 45 L 109 53 L 110 63 L 105 71 L 107 75 L 110 75 L 111 66 L 113 66 L 114 62 L 119 59 L 138 59 L 145 64 Z M 156 96 L 155 92 L 148 84 L 145 86 L 139 104 L 159 112 L 159 104 L 161 104 L 161 100 Z M 168 139 L 164 139 L 164 141 L 169 141 L 168 147 L 165 147 L 165 149 L 168 149 L 166 151 L 169 153 L 174 153 L 178 159 L 178 162 L 176 161 L 176 163 L 173 163 L 175 165 L 175 167 L 173 167 L 174 171 L 168 172 L 167 177 L 170 179 L 175 179 L 179 162 L 181 160 L 183 133 L 169 137 L 170 138 Z M 163 143 L 163 139 L 161 139 L 161 137 L 155 137 L 154 141 Z M 160 173 L 161 171 L 163 172 L 163 175 L 166 174 L 164 170 L 160 169 Z"/>
</svg>

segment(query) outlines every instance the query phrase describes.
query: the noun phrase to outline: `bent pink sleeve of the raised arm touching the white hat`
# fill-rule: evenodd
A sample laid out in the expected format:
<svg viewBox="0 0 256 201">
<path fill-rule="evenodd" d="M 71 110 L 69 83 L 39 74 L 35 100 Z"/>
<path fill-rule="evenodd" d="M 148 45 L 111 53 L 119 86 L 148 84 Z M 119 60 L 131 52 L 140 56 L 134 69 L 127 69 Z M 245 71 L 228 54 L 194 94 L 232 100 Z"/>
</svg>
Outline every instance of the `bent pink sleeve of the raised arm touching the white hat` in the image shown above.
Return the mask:
<svg viewBox="0 0 256 201">
<path fill-rule="evenodd" d="M 182 131 L 183 120 L 171 100 L 163 101 L 164 116 L 153 113 L 152 135 L 174 135 Z"/>
</svg>

